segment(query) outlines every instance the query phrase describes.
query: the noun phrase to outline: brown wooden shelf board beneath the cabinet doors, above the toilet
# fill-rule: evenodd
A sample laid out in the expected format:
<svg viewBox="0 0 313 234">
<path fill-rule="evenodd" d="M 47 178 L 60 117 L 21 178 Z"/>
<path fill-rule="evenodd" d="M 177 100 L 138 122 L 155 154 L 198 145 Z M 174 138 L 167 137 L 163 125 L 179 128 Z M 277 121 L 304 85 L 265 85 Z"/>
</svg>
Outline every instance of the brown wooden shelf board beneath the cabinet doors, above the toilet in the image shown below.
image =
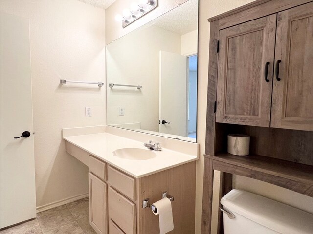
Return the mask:
<svg viewBox="0 0 313 234">
<path fill-rule="evenodd" d="M 313 197 L 313 166 L 282 159 L 218 153 L 204 155 L 213 159 L 213 169 L 262 180 Z"/>
</svg>

